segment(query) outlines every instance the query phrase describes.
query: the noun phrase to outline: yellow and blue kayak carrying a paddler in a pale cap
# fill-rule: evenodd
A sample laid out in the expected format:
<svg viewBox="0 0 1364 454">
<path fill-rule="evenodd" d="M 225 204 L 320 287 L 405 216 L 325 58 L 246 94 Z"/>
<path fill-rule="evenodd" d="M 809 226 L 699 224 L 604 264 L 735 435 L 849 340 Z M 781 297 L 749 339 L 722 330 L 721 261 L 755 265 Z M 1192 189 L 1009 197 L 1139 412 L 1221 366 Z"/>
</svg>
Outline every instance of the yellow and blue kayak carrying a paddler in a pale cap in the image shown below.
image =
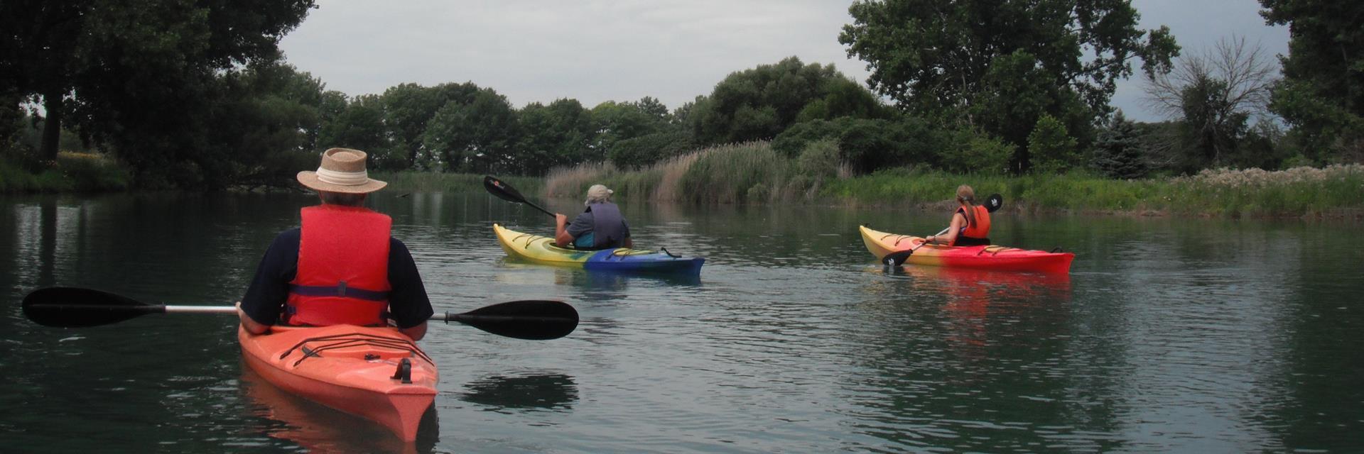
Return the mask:
<svg viewBox="0 0 1364 454">
<path fill-rule="evenodd" d="M 595 271 L 700 274 L 702 258 L 672 256 L 644 249 L 578 251 L 554 245 L 554 239 L 521 233 L 494 224 L 498 244 L 512 258 L 533 263 L 581 267 Z"/>
</svg>

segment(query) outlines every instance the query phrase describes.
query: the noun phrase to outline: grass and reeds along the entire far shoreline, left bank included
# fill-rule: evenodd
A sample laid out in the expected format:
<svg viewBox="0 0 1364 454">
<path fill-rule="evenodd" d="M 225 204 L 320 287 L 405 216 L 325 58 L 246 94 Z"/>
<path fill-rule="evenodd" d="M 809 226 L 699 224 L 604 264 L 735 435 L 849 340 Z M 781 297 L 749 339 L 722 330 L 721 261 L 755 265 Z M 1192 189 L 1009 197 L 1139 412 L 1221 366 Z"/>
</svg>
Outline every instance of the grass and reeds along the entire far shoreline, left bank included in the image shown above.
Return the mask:
<svg viewBox="0 0 1364 454">
<path fill-rule="evenodd" d="M 853 176 L 831 150 L 787 158 L 768 142 L 713 146 L 653 165 L 610 162 L 555 168 L 546 177 L 499 176 L 524 194 L 577 198 L 592 184 L 626 200 L 697 205 L 807 203 L 948 210 L 956 185 L 1001 194 L 1011 213 L 1177 215 L 1219 218 L 1364 220 L 1364 165 L 1285 170 L 1204 169 L 1191 176 L 1114 180 L 1086 172 L 960 175 L 891 168 Z M 483 192 L 475 173 L 374 172 L 393 192 Z M 31 175 L 0 166 L 0 192 L 127 191 L 127 170 L 94 153 L 63 151 L 52 169 Z"/>
</svg>

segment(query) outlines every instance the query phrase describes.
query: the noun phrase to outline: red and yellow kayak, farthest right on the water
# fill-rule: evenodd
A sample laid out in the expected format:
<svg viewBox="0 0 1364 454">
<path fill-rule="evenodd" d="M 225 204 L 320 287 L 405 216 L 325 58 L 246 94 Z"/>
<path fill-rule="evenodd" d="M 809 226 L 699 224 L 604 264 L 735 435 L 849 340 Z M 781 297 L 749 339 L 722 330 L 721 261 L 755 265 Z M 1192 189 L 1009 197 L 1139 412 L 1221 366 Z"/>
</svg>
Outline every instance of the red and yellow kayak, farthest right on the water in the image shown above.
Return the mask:
<svg viewBox="0 0 1364 454">
<path fill-rule="evenodd" d="M 858 229 L 862 232 L 862 243 L 866 244 L 866 249 L 877 260 L 892 252 L 914 249 L 923 243 L 923 239 L 917 236 L 877 232 L 866 226 Z M 1075 260 L 1075 254 L 1071 252 L 1019 249 L 1004 245 L 928 244 L 914 249 L 904 263 L 998 271 L 1071 273 L 1072 260 Z"/>
</svg>

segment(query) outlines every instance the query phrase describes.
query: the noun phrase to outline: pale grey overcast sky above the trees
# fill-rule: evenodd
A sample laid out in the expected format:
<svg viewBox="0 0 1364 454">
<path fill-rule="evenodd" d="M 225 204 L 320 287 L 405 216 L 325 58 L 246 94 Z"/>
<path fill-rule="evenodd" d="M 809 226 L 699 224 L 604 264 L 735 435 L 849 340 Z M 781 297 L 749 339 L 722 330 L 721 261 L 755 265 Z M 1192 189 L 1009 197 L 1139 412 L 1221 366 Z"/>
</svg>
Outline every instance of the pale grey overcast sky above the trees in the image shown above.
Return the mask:
<svg viewBox="0 0 1364 454">
<path fill-rule="evenodd" d="M 866 83 L 837 35 L 846 0 L 447 1 L 319 0 L 280 44 L 289 63 L 349 95 L 413 82 L 473 82 L 517 108 L 576 98 L 659 98 L 670 109 L 709 94 L 735 71 L 788 56 L 832 63 Z M 1288 52 L 1288 27 L 1269 27 L 1256 0 L 1133 0 L 1142 29 L 1170 26 L 1184 52 L 1239 34 L 1269 55 Z M 1113 104 L 1142 106 L 1142 82 Z"/>
</svg>

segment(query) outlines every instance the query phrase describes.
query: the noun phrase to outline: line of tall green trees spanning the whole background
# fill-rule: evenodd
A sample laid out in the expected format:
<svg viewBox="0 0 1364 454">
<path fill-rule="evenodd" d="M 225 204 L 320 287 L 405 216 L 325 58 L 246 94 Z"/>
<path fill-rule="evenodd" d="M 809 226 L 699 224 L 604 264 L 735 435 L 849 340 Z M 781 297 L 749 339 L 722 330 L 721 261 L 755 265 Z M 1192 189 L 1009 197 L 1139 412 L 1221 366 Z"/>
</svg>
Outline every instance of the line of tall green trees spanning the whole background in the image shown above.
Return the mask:
<svg viewBox="0 0 1364 454">
<path fill-rule="evenodd" d="M 517 108 L 468 82 L 349 97 L 276 48 L 311 0 L 16 0 L 0 3 L 12 30 L 0 37 L 0 157 L 35 125 L 34 165 L 76 132 L 139 187 L 207 190 L 284 184 L 331 146 L 385 170 L 532 176 L 746 140 L 854 172 L 1140 177 L 1364 160 L 1364 4 L 1260 3 L 1292 30 L 1282 79 L 1244 46 L 1180 56 L 1168 29 L 1136 27 L 1128 0 L 859 0 L 839 41 L 869 64 L 869 87 L 788 57 L 670 110 L 652 97 Z M 1133 124 L 1110 106 L 1138 68 L 1170 121 Z M 1252 121 L 1271 115 L 1289 128 Z"/>
</svg>

